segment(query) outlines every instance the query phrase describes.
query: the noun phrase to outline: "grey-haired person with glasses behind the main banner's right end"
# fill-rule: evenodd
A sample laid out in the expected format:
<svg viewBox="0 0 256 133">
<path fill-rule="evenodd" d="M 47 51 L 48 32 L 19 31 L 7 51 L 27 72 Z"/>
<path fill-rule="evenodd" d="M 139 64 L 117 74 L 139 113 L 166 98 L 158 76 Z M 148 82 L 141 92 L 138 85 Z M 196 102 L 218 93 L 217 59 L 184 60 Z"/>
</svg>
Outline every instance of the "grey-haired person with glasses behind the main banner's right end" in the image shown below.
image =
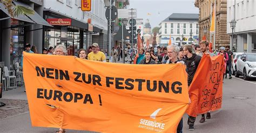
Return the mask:
<svg viewBox="0 0 256 133">
<path fill-rule="evenodd" d="M 184 61 L 178 59 L 179 51 L 180 51 L 180 48 L 176 45 L 167 46 L 167 55 L 169 59 L 166 60 L 164 64 L 176 64 L 176 63 L 185 64 Z M 181 120 L 177 127 L 177 133 L 182 133 L 182 129 L 183 129 L 183 118 L 181 117 Z"/>
</svg>

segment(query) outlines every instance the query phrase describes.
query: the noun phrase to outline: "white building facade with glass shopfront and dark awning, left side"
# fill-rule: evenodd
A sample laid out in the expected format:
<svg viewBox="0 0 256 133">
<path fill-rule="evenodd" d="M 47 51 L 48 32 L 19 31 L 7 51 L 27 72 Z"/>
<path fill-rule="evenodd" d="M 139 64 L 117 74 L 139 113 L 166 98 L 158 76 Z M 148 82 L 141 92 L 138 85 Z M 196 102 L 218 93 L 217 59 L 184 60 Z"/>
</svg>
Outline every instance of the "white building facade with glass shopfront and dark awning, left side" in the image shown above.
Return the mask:
<svg viewBox="0 0 256 133">
<path fill-rule="evenodd" d="M 107 20 L 105 18 L 104 1 L 92 1 L 91 11 L 82 11 L 81 1 L 45 0 L 44 18 L 46 20 L 69 19 L 69 25 L 54 25 L 44 29 L 45 48 L 63 44 L 68 55 L 77 55 L 79 48 L 87 48 L 97 42 L 99 47 L 107 46 Z"/>
</svg>

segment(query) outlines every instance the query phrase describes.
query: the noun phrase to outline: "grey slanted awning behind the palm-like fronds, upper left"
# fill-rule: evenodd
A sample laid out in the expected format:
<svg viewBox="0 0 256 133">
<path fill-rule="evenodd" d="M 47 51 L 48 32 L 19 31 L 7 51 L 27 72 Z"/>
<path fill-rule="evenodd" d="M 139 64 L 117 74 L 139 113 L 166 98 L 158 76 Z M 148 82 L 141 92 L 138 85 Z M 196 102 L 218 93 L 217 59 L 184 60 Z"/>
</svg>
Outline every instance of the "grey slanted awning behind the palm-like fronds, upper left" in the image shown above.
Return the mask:
<svg viewBox="0 0 256 133">
<path fill-rule="evenodd" d="M 14 3 L 15 3 L 15 5 L 21 5 L 21 6 L 25 6 L 27 8 L 30 8 L 29 5 L 21 3 L 21 2 L 14 1 Z M 31 10 L 33 10 L 33 9 L 31 9 Z M 34 11 L 34 14 L 26 15 L 26 16 L 28 18 L 30 18 L 32 21 L 34 21 L 36 24 L 53 27 L 47 21 L 45 21 L 36 11 Z"/>
</svg>

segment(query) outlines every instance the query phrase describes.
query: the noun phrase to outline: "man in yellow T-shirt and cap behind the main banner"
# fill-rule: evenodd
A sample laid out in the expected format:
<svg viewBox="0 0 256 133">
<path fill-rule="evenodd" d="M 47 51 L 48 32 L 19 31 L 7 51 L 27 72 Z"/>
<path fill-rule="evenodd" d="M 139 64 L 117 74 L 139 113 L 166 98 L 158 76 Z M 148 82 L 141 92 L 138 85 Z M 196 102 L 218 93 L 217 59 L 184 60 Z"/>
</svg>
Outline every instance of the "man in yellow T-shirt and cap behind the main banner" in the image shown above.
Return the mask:
<svg viewBox="0 0 256 133">
<path fill-rule="evenodd" d="M 98 43 L 92 43 L 92 52 L 87 55 L 88 60 L 106 62 L 106 56 L 99 51 Z"/>
</svg>

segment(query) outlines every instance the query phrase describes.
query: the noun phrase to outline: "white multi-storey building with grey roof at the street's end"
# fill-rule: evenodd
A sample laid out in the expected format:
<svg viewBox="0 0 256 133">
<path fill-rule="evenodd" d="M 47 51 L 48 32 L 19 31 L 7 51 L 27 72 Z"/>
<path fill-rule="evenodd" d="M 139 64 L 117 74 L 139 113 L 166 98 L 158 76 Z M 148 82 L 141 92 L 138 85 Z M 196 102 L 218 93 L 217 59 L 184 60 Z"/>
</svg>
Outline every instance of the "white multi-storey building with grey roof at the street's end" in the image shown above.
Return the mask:
<svg viewBox="0 0 256 133">
<path fill-rule="evenodd" d="M 173 13 L 159 24 L 160 46 L 167 46 L 170 40 L 175 45 L 198 44 L 198 14 Z M 192 33 L 192 35 L 190 35 Z"/>
</svg>

